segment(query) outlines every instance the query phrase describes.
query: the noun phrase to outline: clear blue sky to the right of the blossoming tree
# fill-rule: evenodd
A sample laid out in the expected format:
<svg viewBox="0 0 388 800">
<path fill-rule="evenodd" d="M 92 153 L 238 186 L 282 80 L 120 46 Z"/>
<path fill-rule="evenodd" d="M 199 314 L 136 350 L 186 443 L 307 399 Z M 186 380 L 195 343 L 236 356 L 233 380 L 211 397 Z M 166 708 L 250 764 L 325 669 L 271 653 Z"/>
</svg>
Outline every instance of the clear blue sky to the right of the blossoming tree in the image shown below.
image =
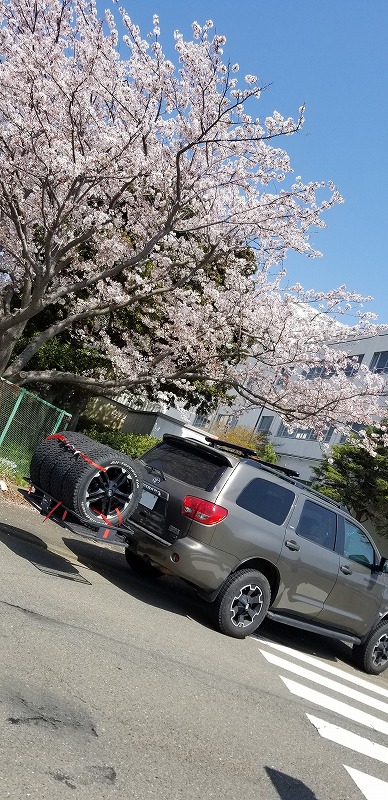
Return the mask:
<svg viewBox="0 0 388 800">
<path fill-rule="evenodd" d="M 103 5 L 103 0 L 99 0 Z M 108 3 L 106 4 L 108 5 Z M 374 300 L 365 310 L 388 323 L 385 253 L 388 235 L 388 0 L 122 0 L 143 35 L 159 15 L 161 42 L 191 36 L 191 22 L 208 19 L 225 34 L 224 59 L 240 75 L 269 88 L 259 116 L 274 109 L 296 116 L 306 104 L 301 134 L 283 147 L 305 182 L 332 180 L 345 199 L 312 236 L 323 258 L 287 257 L 292 281 L 305 288 L 346 284 Z M 261 101 L 260 101 L 261 102 Z"/>
</svg>

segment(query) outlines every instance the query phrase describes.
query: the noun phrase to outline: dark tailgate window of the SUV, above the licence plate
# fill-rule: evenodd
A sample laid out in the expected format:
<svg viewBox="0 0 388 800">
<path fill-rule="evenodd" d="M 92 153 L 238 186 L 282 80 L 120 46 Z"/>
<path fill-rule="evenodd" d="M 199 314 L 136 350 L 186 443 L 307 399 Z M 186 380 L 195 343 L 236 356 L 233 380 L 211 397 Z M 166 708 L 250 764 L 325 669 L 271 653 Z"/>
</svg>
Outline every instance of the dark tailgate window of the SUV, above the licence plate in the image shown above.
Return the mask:
<svg viewBox="0 0 388 800">
<path fill-rule="evenodd" d="M 198 489 L 210 491 L 226 469 L 212 453 L 203 453 L 194 448 L 175 447 L 167 442 L 157 445 L 141 458 L 146 464 L 160 469 L 171 478 L 190 483 Z"/>
</svg>

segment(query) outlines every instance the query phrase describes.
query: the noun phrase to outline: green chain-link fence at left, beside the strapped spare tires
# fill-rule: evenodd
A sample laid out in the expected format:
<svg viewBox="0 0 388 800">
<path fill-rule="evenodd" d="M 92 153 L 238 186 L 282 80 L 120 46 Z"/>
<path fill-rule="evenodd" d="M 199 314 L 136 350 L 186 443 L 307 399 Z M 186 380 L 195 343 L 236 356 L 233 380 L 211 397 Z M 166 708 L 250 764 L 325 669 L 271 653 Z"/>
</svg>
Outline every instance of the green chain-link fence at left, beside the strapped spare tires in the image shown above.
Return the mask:
<svg viewBox="0 0 388 800">
<path fill-rule="evenodd" d="M 0 379 L 0 472 L 28 475 L 36 446 L 67 427 L 71 414 Z"/>
</svg>

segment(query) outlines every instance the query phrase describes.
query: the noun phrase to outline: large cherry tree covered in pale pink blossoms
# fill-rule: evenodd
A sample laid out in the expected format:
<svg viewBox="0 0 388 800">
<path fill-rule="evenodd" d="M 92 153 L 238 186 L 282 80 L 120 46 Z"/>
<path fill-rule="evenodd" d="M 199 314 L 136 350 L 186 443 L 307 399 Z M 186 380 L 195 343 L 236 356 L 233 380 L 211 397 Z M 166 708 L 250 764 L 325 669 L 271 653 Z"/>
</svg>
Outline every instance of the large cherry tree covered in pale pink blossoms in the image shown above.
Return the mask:
<svg viewBox="0 0 388 800">
<path fill-rule="evenodd" d="M 281 288 L 286 253 L 319 255 L 309 234 L 341 201 L 279 146 L 303 108 L 261 119 L 265 87 L 223 62 L 211 21 L 175 33 L 174 66 L 156 16 L 143 39 L 116 14 L 0 0 L 0 375 L 104 395 L 227 385 L 290 424 L 368 422 L 383 382 L 346 367 L 369 323 L 336 321 L 363 298 Z M 66 332 L 94 365 L 34 367 Z"/>
</svg>

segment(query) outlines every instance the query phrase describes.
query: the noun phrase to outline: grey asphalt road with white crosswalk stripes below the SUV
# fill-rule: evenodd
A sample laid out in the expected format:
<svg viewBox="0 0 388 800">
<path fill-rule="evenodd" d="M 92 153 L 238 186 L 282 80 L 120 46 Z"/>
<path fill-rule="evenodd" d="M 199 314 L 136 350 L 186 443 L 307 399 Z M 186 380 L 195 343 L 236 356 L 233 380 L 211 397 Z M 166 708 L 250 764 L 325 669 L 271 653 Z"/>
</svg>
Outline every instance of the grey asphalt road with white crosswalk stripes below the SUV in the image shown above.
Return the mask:
<svg viewBox="0 0 388 800">
<path fill-rule="evenodd" d="M 41 520 L 0 508 L 1 800 L 386 800 L 387 674 L 279 625 L 222 636 L 189 587 Z"/>
</svg>

